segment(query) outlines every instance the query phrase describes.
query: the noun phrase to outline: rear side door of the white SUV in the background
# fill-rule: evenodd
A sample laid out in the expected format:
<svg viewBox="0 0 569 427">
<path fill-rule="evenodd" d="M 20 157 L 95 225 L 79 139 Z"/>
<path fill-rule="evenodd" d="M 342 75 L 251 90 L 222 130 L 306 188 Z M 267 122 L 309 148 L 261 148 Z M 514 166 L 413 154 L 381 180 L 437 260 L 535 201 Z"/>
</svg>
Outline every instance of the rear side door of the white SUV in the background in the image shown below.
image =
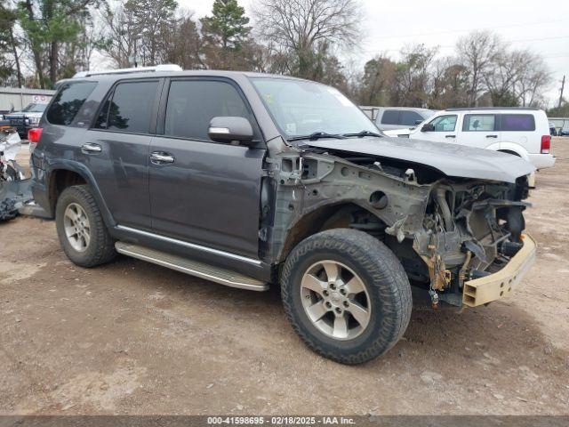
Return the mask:
<svg viewBox="0 0 569 427">
<path fill-rule="evenodd" d="M 479 149 L 498 149 L 499 126 L 499 116 L 496 114 L 465 114 L 462 118 L 461 132 L 457 136 L 457 142 Z"/>
</svg>

